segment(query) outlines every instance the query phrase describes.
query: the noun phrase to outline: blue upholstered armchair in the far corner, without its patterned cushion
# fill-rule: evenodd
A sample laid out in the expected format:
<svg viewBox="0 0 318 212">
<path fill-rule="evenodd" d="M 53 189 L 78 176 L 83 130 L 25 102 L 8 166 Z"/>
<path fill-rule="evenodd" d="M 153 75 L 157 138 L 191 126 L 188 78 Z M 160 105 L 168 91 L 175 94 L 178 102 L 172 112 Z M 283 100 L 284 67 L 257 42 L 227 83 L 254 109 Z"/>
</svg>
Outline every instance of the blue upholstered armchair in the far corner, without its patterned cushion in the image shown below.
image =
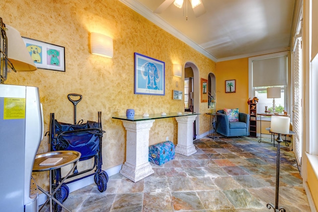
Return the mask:
<svg viewBox="0 0 318 212">
<path fill-rule="evenodd" d="M 239 122 L 229 122 L 224 110 L 217 114 L 217 133 L 226 137 L 249 136 L 249 114 L 239 113 Z"/>
</svg>

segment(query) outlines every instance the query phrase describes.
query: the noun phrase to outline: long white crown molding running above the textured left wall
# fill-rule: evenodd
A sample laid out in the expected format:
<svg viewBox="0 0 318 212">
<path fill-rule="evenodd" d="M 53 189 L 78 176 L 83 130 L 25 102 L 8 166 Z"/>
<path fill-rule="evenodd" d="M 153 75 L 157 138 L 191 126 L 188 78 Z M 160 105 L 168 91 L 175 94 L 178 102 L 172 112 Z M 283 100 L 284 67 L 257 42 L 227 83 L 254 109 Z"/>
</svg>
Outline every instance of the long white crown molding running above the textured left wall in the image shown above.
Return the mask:
<svg viewBox="0 0 318 212">
<path fill-rule="evenodd" d="M 166 32 L 170 33 L 174 37 L 178 38 L 179 40 L 183 41 L 199 53 L 203 54 L 207 58 L 211 59 L 214 62 L 218 62 L 218 59 L 214 57 L 212 54 L 207 52 L 205 49 L 203 49 L 201 46 L 193 42 L 191 39 L 189 39 L 187 36 L 182 34 L 180 31 L 178 31 L 176 28 L 172 27 L 170 24 L 168 24 L 165 20 L 160 18 L 159 15 L 155 14 L 151 10 L 149 10 L 147 7 L 145 7 L 143 4 L 139 3 L 136 0 L 119 0 L 126 6 L 130 7 L 134 11 L 138 12 L 157 26 L 159 26 L 161 29 L 165 30 Z"/>
</svg>

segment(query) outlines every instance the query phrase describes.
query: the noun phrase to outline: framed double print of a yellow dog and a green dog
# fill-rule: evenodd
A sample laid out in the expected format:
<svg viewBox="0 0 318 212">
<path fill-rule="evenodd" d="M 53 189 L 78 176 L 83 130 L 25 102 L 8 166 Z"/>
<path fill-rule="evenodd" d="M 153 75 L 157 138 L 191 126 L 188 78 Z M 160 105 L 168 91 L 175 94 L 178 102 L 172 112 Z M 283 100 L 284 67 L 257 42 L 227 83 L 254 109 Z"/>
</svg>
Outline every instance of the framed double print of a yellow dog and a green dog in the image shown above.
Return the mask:
<svg viewBox="0 0 318 212">
<path fill-rule="evenodd" d="M 65 71 L 65 48 L 63 46 L 25 37 L 22 39 L 38 69 Z"/>
</svg>

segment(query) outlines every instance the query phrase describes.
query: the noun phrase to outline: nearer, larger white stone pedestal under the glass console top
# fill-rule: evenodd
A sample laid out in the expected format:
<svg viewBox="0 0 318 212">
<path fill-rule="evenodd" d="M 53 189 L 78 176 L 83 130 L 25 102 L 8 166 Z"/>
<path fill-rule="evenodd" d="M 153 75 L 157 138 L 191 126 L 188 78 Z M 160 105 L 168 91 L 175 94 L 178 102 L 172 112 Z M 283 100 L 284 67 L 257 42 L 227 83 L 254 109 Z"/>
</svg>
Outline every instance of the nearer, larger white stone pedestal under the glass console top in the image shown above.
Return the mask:
<svg viewBox="0 0 318 212">
<path fill-rule="evenodd" d="M 155 120 L 122 122 L 127 131 L 126 161 L 119 173 L 137 182 L 154 173 L 148 161 L 148 152 L 149 131 Z"/>
</svg>

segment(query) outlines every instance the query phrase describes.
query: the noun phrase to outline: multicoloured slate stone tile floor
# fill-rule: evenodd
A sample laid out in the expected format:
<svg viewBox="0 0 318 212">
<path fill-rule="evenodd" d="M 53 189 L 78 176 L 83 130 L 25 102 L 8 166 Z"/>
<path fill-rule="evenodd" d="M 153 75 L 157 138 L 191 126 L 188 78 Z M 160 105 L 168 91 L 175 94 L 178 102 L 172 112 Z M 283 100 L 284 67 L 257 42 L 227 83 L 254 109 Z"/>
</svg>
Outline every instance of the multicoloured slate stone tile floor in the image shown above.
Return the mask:
<svg viewBox="0 0 318 212">
<path fill-rule="evenodd" d="M 139 182 L 116 174 L 105 192 L 91 184 L 70 193 L 64 205 L 72 212 L 272 212 L 266 204 L 275 205 L 277 147 L 257 141 L 196 140 L 195 154 L 151 163 L 155 173 Z M 310 212 L 294 153 L 281 144 L 279 206 Z"/>
</svg>

